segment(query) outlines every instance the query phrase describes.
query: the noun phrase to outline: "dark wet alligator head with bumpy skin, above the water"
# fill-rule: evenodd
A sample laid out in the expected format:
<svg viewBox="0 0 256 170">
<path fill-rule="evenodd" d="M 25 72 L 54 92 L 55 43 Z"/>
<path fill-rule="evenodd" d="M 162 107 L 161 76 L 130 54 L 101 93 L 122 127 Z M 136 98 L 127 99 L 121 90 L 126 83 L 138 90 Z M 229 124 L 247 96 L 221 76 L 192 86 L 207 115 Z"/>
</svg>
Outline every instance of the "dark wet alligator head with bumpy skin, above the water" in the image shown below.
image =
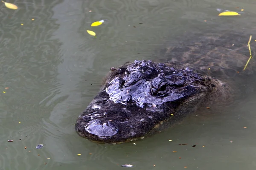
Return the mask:
<svg viewBox="0 0 256 170">
<path fill-rule="evenodd" d="M 175 123 L 206 99 L 227 98 L 229 86 L 189 67 L 134 61 L 112 68 L 99 94 L 80 114 L 77 133 L 101 143 L 144 138 Z"/>
</svg>

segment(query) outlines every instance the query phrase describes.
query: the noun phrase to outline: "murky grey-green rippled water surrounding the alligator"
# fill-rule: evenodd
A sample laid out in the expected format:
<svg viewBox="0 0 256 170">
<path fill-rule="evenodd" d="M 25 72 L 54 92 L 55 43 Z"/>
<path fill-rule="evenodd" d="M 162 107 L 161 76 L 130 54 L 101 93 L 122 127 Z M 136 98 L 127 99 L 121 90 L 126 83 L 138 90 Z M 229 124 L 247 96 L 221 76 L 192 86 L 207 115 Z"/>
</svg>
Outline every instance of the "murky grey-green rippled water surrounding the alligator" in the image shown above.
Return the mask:
<svg viewBox="0 0 256 170">
<path fill-rule="evenodd" d="M 245 79 L 250 86 L 243 100 L 221 112 L 192 116 L 136 145 L 95 144 L 74 130 L 110 67 L 157 59 L 166 40 L 175 41 L 184 31 L 255 30 L 255 1 L 8 2 L 19 9 L 0 4 L 0 89 L 6 92 L 0 94 L 1 170 L 117 170 L 121 164 L 141 170 L 256 168 L 253 76 L 251 82 Z M 244 9 L 244 14 L 218 17 L 216 8 Z M 107 19 L 102 26 L 90 27 L 102 19 Z M 37 144 L 44 147 L 38 150 Z"/>
</svg>

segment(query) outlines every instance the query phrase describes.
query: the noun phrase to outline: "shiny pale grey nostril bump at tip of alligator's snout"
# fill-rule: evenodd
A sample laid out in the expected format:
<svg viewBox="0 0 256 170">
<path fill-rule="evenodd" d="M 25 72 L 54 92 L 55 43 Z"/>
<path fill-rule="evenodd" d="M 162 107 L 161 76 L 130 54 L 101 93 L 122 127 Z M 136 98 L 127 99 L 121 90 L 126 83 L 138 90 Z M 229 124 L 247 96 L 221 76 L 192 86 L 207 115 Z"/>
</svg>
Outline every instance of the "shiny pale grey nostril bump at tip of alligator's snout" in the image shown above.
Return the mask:
<svg viewBox="0 0 256 170">
<path fill-rule="evenodd" d="M 111 121 L 101 122 L 93 120 L 87 123 L 84 129 L 97 136 L 113 136 L 118 132 L 116 125 Z"/>
</svg>

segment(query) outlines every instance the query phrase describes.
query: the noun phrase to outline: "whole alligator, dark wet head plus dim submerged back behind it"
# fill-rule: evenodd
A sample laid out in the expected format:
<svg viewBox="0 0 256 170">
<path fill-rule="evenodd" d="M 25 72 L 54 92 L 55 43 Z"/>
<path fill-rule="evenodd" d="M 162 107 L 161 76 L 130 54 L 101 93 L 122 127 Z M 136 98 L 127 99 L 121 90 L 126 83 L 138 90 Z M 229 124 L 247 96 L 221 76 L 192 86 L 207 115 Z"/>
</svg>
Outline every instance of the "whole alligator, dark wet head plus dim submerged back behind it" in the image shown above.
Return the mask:
<svg viewBox="0 0 256 170">
<path fill-rule="evenodd" d="M 164 55 L 172 62 L 135 60 L 111 69 L 99 94 L 77 119 L 76 132 L 99 143 L 130 142 L 143 139 L 164 122 L 174 124 L 206 100 L 228 99 L 230 85 L 204 73 L 212 68 L 226 77 L 242 68 L 248 57 L 238 51 L 244 51 L 246 41 L 236 36 L 236 49 L 232 41 L 219 44 L 221 36 L 214 34 L 202 38 L 208 46 L 202 41 L 183 44 L 179 54 L 177 48 L 166 48 Z M 177 63 L 175 57 L 179 55 L 184 60 Z M 209 62 L 211 55 L 215 58 Z M 221 57 L 226 63 L 237 60 L 236 64 L 223 66 Z"/>
</svg>

